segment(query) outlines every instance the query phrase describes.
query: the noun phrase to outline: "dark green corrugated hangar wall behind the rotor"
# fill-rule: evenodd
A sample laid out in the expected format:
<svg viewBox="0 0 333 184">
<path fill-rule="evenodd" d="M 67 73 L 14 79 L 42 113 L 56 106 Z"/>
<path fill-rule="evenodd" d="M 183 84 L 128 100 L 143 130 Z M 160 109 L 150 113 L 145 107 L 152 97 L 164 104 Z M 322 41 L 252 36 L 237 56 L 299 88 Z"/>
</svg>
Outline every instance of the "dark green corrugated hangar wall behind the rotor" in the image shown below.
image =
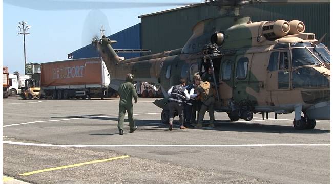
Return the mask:
<svg viewBox="0 0 333 184">
<path fill-rule="evenodd" d="M 256 4 L 240 11 L 252 22 L 265 20 L 300 20 L 305 32 L 315 33 L 319 39 L 327 33 L 323 43 L 330 48 L 330 5 L 321 4 Z M 192 35 L 192 27 L 200 20 L 219 16 L 213 6 L 198 6 L 141 17 L 142 49 L 153 53 L 182 48 Z"/>
</svg>

